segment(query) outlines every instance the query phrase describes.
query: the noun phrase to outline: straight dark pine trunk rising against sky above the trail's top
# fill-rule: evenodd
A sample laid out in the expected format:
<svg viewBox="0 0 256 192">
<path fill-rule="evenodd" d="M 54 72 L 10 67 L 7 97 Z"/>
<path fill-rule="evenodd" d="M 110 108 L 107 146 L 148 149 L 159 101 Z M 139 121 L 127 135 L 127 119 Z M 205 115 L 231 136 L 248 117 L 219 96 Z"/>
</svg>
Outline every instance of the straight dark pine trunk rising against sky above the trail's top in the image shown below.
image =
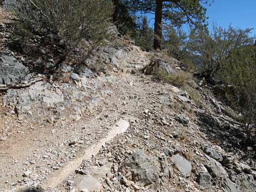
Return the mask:
<svg viewBox="0 0 256 192">
<path fill-rule="evenodd" d="M 163 0 L 156 0 L 154 49 L 161 49 Z"/>
</svg>

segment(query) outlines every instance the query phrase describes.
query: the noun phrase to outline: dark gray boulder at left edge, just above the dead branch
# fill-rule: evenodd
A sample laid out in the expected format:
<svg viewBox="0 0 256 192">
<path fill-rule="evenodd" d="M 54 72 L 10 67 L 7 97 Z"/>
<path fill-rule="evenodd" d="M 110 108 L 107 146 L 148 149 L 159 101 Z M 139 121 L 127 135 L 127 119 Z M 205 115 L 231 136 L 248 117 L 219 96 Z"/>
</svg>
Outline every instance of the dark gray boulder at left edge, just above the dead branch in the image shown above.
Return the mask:
<svg viewBox="0 0 256 192">
<path fill-rule="evenodd" d="M 29 70 L 13 56 L 0 56 L 0 84 L 18 84 L 26 80 Z"/>
</svg>

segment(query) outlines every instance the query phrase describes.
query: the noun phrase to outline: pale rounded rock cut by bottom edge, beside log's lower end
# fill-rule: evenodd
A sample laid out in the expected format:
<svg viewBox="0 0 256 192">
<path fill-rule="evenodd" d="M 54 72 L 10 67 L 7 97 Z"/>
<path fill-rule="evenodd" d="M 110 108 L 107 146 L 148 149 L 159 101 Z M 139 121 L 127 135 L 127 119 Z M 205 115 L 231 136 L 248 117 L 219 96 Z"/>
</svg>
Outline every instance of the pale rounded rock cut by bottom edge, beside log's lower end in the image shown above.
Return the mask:
<svg viewBox="0 0 256 192">
<path fill-rule="evenodd" d="M 101 183 L 94 177 L 88 176 L 79 183 L 78 190 L 83 192 L 100 192 Z"/>
</svg>

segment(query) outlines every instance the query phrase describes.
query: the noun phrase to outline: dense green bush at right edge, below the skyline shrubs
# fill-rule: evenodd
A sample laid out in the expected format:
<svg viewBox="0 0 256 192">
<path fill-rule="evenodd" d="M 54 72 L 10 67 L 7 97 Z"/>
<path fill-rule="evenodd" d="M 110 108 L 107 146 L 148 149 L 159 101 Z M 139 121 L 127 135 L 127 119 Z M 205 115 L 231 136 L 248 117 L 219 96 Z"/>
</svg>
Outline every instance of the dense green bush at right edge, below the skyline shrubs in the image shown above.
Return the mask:
<svg viewBox="0 0 256 192">
<path fill-rule="evenodd" d="M 229 86 L 228 98 L 239 107 L 246 131 L 256 123 L 256 47 L 244 46 L 230 52 L 225 63 L 225 83 Z"/>
</svg>

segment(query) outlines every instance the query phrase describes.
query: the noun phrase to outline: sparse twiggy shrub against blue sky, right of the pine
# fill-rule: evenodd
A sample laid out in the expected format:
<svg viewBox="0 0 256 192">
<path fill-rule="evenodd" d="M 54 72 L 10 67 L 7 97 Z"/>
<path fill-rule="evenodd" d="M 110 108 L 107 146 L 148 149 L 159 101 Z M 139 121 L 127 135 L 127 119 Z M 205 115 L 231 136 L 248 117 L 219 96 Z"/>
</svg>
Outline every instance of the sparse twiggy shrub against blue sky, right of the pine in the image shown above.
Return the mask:
<svg viewBox="0 0 256 192">
<path fill-rule="evenodd" d="M 212 71 L 218 76 L 223 70 L 223 64 L 228 60 L 230 51 L 252 44 L 249 35 L 252 29 L 228 28 L 213 25 L 212 33 L 205 30 L 193 30 L 187 48 L 198 58 L 202 71 Z M 222 79 L 222 77 L 219 77 Z"/>
</svg>

